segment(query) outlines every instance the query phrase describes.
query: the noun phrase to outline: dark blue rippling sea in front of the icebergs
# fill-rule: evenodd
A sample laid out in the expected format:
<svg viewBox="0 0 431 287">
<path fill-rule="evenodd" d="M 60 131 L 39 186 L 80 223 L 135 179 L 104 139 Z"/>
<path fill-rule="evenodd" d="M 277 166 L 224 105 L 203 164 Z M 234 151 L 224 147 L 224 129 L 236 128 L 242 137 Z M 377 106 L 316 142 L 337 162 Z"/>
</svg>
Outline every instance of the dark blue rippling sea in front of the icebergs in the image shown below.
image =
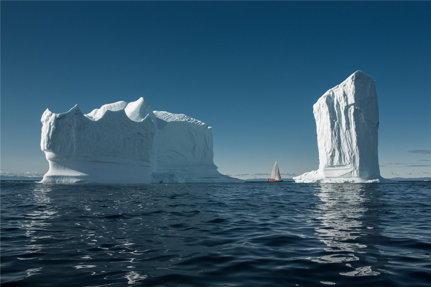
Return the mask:
<svg viewBox="0 0 431 287">
<path fill-rule="evenodd" d="M 1 286 L 430 286 L 431 182 L 1 182 Z"/>
</svg>

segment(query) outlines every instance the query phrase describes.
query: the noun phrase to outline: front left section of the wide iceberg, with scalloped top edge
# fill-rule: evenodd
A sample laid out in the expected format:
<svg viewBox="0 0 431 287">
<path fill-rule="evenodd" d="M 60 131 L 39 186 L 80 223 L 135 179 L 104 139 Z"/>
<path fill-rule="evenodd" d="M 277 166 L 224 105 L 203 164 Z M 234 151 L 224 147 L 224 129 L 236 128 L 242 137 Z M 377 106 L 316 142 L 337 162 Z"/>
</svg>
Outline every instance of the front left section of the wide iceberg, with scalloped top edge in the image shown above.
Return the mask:
<svg viewBox="0 0 431 287">
<path fill-rule="evenodd" d="M 78 105 L 62 114 L 47 109 L 41 149 L 50 168 L 42 182 L 151 183 L 155 125 L 148 114 L 131 120 L 126 107 L 116 102 L 87 115 Z"/>
</svg>

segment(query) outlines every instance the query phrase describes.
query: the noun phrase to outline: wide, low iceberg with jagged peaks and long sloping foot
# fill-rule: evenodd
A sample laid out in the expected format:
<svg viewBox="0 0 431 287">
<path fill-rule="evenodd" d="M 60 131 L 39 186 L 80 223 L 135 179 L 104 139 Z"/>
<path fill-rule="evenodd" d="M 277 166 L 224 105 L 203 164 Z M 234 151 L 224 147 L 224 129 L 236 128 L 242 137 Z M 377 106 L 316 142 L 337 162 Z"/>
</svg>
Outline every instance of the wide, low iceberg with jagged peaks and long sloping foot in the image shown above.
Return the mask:
<svg viewBox="0 0 431 287">
<path fill-rule="evenodd" d="M 217 171 L 210 127 L 183 114 L 156 113 L 143 98 L 89 114 L 78 105 L 61 114 L 47 109 L 41 149 L 50 168 L 42 182 L 240 181 Z"/>
</svg>

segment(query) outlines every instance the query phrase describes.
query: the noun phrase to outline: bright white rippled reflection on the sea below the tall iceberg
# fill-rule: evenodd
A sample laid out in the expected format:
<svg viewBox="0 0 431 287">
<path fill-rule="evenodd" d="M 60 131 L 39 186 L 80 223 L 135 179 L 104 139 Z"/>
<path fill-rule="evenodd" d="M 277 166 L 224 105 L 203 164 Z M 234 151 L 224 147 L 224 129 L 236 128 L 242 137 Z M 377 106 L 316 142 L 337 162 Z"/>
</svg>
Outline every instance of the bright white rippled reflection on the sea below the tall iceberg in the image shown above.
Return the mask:
<svg viewBox="0 0 431 287">
<path fill-rule="evenodd" d="M 371 266 L 353 266 L 360 260 L 360 254 L 369 253 L 372 246 L 364 244 L 367 236 L 367 226 L 364 222 L 368 211 L 365 201 L 365 189 L 360 184 L 321 184 L 316 194 L 323 204 L 318 205 L 322 226 L 315 228 L 318 239 L 326 244 L 325 251 L 330 254 L 320 256 L 312 261 L 319 263 L 349 262 L 346 266 L 354 268 L 351 272 L 341 272 L 341 275 L 362 276 L 379 275 Z M 366 250 L 365 250 L 366 249 Z M 361 262 L 363 262 L 361 260 Z"/>
</svg>

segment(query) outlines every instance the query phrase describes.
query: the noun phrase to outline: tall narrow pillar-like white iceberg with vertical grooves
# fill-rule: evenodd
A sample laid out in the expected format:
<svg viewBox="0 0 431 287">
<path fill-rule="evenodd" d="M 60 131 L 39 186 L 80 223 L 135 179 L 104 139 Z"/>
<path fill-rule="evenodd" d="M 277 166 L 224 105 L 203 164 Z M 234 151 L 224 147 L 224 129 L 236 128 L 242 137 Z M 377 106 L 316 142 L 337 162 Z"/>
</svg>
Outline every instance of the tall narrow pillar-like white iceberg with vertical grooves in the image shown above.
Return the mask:
<svg viewBox="0 0 431 287">
<path fill-rule="evenodd" d="M 356 71 L 314 105 L 319 169 L 295 182 L 385 182 L 378 165 L 375 80 Z"/>
</svg>

